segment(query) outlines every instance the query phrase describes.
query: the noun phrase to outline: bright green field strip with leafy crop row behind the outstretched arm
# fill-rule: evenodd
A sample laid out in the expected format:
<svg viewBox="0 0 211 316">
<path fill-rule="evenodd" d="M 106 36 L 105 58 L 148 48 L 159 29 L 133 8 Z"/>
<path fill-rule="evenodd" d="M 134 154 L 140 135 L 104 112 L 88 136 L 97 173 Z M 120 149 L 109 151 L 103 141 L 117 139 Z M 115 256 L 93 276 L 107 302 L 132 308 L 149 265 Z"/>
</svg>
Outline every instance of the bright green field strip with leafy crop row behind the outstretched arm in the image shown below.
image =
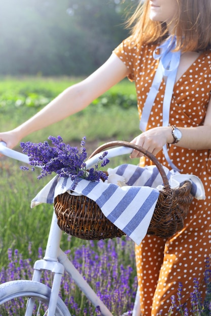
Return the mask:
<svg viewBox="0 0 211 316">
<path fill-rule="evenodd" d="M 21 107 L 43 108 L 54 97 L 79 79 L 71 78 L 2 78 L 0 80 L 0 112 L 8 107 L 17 109 Z M 111 88 L 109 92 L 100 96 L 93 102 L 94 106 L 108 107 L 120 106 L 129 109 L 137 107 L 135 86 L 128 80 Z"/>
</svg>

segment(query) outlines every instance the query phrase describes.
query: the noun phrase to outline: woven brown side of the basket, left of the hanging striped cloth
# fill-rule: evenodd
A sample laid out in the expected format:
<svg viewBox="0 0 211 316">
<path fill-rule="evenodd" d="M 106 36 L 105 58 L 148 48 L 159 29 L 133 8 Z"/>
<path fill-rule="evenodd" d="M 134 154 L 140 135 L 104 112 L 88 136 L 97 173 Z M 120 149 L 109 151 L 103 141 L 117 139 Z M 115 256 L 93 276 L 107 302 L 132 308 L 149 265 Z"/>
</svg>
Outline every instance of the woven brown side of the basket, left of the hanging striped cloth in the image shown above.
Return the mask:
<svg viewBox="0 0 211 316">
<path fill-rule="evenodd" d="M 86 240 L 100 240 L 125 235 L 102 213 L 98 204 L 85 195 L 67 192 L 54 201 L 58 225 L 71 236 Z"/>
</svg>

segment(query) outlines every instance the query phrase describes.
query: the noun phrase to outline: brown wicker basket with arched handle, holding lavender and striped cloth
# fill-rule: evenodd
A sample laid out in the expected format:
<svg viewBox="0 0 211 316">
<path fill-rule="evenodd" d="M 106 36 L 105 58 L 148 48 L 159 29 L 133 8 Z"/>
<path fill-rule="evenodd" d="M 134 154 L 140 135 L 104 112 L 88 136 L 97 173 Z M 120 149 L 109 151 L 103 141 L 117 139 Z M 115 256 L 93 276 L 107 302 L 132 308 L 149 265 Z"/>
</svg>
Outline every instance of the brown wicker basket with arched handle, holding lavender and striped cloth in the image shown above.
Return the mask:
<svg viewBox="0 0 211 316">
<path fill-rule="evenodd" d="M 113 146 L 125 146 L 139 150 L 149 157 L 163 180 L 154 214 L 147 233 L 167 238 L 184 227 L 193 196 L 190 193 L 191 182 L 186 181 L 178 189 L 171 189 L 162 165 L 146 149 L 125 141 L 111 141 L 98 147 L 90 157 Z M 74 196 L 69 193 L 58 195 L 54 201 L 55 212 L 60 229 L 66 233 L 86 240 L 100 240 L 125 235 L 102 213 L 97 203 L 86 196 Z"/>
</svg>

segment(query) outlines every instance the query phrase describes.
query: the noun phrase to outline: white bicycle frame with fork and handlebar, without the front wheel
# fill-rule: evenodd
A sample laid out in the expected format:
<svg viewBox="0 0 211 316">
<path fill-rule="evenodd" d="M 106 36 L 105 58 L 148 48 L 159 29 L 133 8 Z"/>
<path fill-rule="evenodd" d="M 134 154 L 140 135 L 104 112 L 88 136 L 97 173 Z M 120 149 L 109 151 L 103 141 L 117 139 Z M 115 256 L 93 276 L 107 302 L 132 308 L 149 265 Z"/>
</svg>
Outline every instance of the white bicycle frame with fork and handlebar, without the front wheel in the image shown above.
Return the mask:
<svg viewBox="0 0 211 316">
<path fill-rule="evenodd" d="M 130 153 L 131 148 L 117 147 L 107 150 L 108 154 L 106 157 L 113 157 L 121 154 Z M 4 155 L 11 157 L 15 160 L 19 160 L 24 163 L 29 163 L 27 155 L 17 152 L 15 150 L 6 147 L 4 142 L 0 142 L 0 152 Z M 87 167 L 95 165 L 98 162 L 100 154 L 92 157 L 86 164 Z M 113 316 L 104 303 L 100 300 L 94 290 L 90 287 L 85 279 L 80 275 L 77 269 L 73 266 L 72 262 L 67 258 L 67 255 L 60 248 L 60 241 L 62 237 L 62 231 L 57 225 L 57 217 L 53 212 L 46 253 L 43 259 L 37 260 L 34 263 L 34 274 L 32 281 L 40 282 L 41 272 L 44 270 L 51 271 L 54 273 L 53 285 L 51 289 L 51 298 L 49 303 L 48 315 L 52 316 L 55 314 L 57 299 L 59 296 L 61 278 L 66 271 L 68 275 L 74 280 L 75 284 L 80 290 L 87 296 L 87 298 L 93 303 L 94 306 L 99 306 L 101 314 L 103 316 Z M 134 306 L 133 316 L 139 316 L 139 293 L 137 291 L 136 302 Z M 25 315 L 31 315 L 34 306 L 33 298 L 28 300 L 27 309 Z M 70 314 L 69 314 L 70 315 Z M 68 316 L 68 315 L 67 315 Z"/>
</svg>

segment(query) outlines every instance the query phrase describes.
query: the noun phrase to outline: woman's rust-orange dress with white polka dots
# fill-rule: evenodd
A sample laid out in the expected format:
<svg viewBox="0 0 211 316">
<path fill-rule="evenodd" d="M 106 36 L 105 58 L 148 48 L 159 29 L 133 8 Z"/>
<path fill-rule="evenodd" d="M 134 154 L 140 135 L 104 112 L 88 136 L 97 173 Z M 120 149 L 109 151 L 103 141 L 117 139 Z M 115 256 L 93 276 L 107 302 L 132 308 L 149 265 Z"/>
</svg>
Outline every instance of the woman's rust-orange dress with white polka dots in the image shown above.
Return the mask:
<svg viewBox="0 0 211 316">
<path fill-rule="evenodd" d="M 115 50 L 120 60 L 130 69 L 129 79 L 136 83 L 138 111 L 142 109 L 152 84 L 158 61 L 153 58 L 154 44 L 136 47 L 132 37 L 125 39 Z M 152 107 L 147 129 L 162 126 L 162 103 L 165 83 L 162 82 Z M 211 91 L 211 52 L 203 52 L 176 82 L 170 109 L 170 124 L 177 127 L 202 125 Z M 211 135 L 210 135 L 211 137 Z M 168 315 L 171 297 L 177 298 L 182 282 L 182 302 L 190 310 L 190 293 L 194 278 L 205 295 L 204 271 L 210 255 L 211 221 L 211 155 L 210 149 L 193 150 L 171 145 L 168 154 L 181 173 L 197 175 L 205 188 L 205 200 L 193 200 L 183 230 L 173 237 L 162 239 L 147 235 L 140 246 L 135 246 L 137 276 L 142 316 Z M 171 169 L 162 152 L 157 159 Z M 143 157 L 141 166 L 150 164 Z M 162 312 L 161 312 L 162 311 Z M 174 310 L 174 315 L 180 315 Z M 191 314 L 191 313 L 189 313 Z"/>
</svg>

